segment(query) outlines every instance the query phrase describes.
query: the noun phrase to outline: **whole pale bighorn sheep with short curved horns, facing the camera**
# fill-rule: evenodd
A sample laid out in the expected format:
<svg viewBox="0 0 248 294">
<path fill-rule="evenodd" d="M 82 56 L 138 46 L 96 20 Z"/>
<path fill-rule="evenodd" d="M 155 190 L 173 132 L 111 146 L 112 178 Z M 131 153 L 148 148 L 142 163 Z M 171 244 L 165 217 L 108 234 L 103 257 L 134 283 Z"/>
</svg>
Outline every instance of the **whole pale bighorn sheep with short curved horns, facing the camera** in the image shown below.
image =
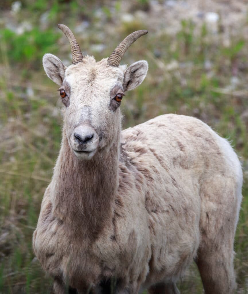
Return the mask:
<svg viewBox="0 0 248 294">
<path fill-rule="evenodd" d="M 45 54 L 43 66 L 60 85 L 63 138 L 33 234 L 55 293 L 66 285 L 71 293 L 178 293 L 193 260 L 205 293 L 233 293 L 242 168 L 232 147 L 182 115 L 121 131 L 122 97 L 141 84 L 148 64 L 119 64 L 147 31 L 96 62 L 67 26 L 59 28 L 72 65 Z"/>
</svg>

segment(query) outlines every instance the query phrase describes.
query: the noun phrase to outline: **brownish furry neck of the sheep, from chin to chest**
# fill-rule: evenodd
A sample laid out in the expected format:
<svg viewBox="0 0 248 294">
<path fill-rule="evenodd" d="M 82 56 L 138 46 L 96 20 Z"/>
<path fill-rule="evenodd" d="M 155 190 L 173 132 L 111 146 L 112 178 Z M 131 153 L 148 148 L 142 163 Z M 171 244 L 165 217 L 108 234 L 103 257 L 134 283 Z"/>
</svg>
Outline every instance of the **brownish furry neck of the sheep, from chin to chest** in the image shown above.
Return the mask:
<svg viewBox="0 0 248 294">
<path fill-rule="evenodd" d="M 118 187 L 120 130 L 110 150 L 90 161 L 73 154 L 63 130 L 62 145 L 51 182 L 53 215 L 73 230 L 97 235 L 112 221 Z"/>
</svg>

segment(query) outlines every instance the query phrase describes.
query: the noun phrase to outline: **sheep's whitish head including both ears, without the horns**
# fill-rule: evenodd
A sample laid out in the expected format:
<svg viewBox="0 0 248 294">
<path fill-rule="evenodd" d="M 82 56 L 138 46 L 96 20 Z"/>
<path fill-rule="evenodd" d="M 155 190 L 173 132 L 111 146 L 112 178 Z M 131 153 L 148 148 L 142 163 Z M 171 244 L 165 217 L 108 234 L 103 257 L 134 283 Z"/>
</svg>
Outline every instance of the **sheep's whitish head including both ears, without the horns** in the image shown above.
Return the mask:
<svg viewBox="0 0 248 294">
<path fill-rule="evenodd" d="M 66 136 L 75 156 L 90 160 L 108 151 L 120 136 L 122 97 L 144 80 L 147 62 L 138 61 L 126 69 L 109 65 L 107 59 L 96 62 L 84 56 L 66 68 L 58 57 L 45 54 L 43 66 L 48 77 L 60 85 Z"/>
</svg>

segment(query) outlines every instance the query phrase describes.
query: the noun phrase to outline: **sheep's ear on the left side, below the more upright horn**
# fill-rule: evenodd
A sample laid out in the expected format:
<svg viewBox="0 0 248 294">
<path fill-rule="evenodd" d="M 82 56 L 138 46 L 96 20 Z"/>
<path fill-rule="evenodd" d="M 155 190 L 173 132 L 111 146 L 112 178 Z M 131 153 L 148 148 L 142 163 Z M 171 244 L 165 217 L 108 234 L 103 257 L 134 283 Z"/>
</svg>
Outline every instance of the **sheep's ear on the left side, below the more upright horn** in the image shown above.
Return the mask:
<svg viewBox="0 0 248 294">
<path fill-rule="evenodd" d="M 62 85 L 66 67 L 62 61 L 53 54 L 45 54 L 42 59 L 44 70 L 54 83 Z"/>
</svg>

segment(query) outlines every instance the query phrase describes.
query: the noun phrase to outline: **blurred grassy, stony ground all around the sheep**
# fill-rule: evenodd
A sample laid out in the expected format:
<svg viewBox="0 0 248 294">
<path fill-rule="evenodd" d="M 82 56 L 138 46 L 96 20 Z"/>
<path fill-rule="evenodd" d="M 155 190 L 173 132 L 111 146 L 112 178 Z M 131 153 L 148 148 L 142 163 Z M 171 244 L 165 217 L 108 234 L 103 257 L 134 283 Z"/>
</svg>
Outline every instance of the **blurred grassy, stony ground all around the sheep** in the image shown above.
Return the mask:
<svg viewBox="0 0 248 294">
<path fill-rule="evenodd" d="M 147 29 L 122 63 L 149 72 L 122 102 L 123 128 L 163 113 L 200 118 L 234 146 L 244 171 L 235 240 L 237 293 L 248 293 L 248 1 L 1 0 L 0 293 L 50 293 L 32 250 L 40 204 L 58 156 L 63 107 L 42 67 L 45 53 L 71 63 L 66 24 L 84 54 L 109 56 Z M 193 265 L 182 293 L 203 293 Z"/>
</svg>

